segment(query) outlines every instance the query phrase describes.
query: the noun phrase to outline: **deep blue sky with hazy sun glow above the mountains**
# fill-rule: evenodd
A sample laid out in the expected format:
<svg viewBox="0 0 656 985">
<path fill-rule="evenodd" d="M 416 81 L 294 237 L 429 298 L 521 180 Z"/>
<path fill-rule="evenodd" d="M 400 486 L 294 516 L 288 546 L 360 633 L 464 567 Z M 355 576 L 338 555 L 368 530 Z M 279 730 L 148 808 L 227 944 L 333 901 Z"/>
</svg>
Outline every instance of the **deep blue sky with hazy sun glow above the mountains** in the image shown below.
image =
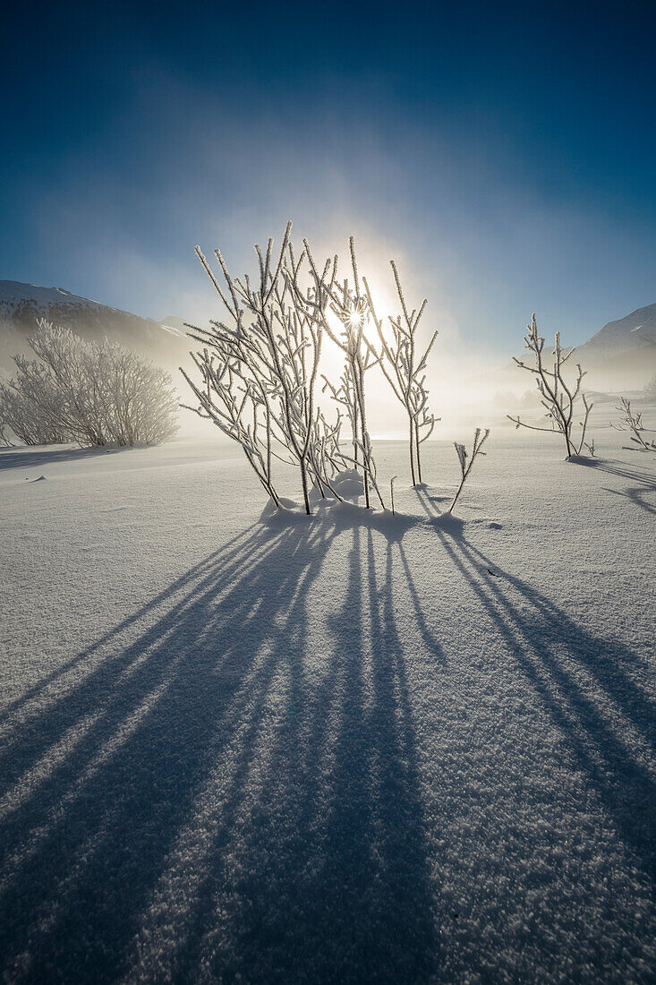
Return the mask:
<svg viewBox="0 0 656 985">
<path fill-rule="evenodd" d="M 453 346 L 513 348 L 533 309 L 583 342 L 656 301 L 653 4 L 11 18 L 0 279 L 200 319 L 195 243 L 238 272 L 291 218 L 381 278 L 397 257 Z"/>
</svg>

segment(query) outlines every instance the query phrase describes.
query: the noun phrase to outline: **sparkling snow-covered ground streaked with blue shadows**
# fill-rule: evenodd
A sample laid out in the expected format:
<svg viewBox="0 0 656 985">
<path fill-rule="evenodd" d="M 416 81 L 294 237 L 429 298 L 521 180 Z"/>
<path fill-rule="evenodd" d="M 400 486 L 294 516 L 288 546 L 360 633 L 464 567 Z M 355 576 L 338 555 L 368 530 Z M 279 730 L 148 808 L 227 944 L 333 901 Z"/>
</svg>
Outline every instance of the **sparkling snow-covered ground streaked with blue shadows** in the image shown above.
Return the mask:
<svg viewBox="0 0 656 985">
<path fill-rule="evenodd" d="M 597 437 L 446 522 L 448 442 L 284 522 L 214 444 L 2 452 L 7 980 L 654 981 L 656 467 Z"/>
</svg>

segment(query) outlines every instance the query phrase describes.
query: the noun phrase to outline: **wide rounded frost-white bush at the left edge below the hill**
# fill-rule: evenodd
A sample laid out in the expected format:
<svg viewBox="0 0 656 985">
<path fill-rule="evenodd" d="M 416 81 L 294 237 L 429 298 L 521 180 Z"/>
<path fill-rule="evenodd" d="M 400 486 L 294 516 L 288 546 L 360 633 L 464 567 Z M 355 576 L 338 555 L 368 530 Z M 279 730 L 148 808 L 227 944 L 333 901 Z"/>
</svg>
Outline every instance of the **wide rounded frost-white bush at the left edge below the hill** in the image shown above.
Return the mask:
<svg viewBox="0 0 656 985">
<path fill-rule="evenodd" d="M 0 383 L 0 422 L 26 444 L 161 444 L 177 429 L 168 373 L 118 343 L 87 342 L 46 321 Z"/>
</svg>

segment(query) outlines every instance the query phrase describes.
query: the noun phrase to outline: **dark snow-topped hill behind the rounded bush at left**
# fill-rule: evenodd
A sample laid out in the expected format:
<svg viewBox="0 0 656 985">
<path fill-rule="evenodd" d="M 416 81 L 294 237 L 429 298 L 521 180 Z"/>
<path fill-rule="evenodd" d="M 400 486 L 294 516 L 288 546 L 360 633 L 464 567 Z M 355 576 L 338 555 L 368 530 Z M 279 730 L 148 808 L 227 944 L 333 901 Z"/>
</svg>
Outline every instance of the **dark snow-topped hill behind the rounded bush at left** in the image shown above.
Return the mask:
<svg viewBox="0 0 656 985">
<path fill-rule="evenodd" d="M 0 281 L 0 362 L 7 366 L 15 352 L 28 349 L 36 320 L 46 318 L 71 328 L 86 339 L 107 337 L 143 353 L 166 368 L 177 366 L 189 349 L 181 318 L 167 324 L 141 318 L 63 288 L 41 288 L 18 281 Z"/>
</svg>

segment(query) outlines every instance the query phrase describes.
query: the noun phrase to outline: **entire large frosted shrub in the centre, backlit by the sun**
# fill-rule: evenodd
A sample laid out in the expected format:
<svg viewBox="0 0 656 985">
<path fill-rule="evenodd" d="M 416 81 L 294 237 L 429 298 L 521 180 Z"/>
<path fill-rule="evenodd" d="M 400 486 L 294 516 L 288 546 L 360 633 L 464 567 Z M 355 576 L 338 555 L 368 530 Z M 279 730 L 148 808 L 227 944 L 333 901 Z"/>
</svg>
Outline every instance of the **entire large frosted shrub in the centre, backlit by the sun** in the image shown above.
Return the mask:
<svg viewBox="0 0 656 985">
<path fill-rule="evenodd" d="M 358 270 L 353 237 L 349 240 L 348 276 L 338 278 L 339 258 L 318 266 L 309 243 L 296 255 L 288 223 L 280 249 L 273 239 L 266 250 L 255 246 L 258 273 L 232 277 L 222 253 L 215 250 L 220 279 L 200 247 L 196 254 L 221 297 L 227 317 L 212 321 L 211 329 L 187 326 L 188 335 L 202 349 L 191 353 L 200 379 L 180 367 L 197 405 L 189 408 L 211 420 L 242 448 L 266 492 L 281 506 L 273 482 L 273 463 L 280 459 L 299 470 L 305 512 L 310 513 L 310 492 L 341 498 L 333 480 L 353 467 L 361 471 L 364 504 L 375 496 L 385 503 L 376 475 L 368 430 L 365 399 L 366 374 L 379 365 L 409 417 L 413 482 L 421 481 L 420 444 L 434 425 L 427 409 L 426 359 L 417 348 L 417 328 L 426 306 L 408 311 L 394 264 L 394 276 L 403 316 L 390 319 L 392 340 L 387 341 L 373 308 L 365 278 Z M 364 328 L 373 321 L 382 345 L 380 355 Z M 436 333 L 435 333 L 436 334 Z M 341 351 L 344 368 L 337 381 L 321 376 L 321 392 L 335 407 L 329 421 L 317 406 L 319 362 L 324 339 Z M 343 422 L 351 427 L 353 454 L 340 445 Z"/>
</svg>

